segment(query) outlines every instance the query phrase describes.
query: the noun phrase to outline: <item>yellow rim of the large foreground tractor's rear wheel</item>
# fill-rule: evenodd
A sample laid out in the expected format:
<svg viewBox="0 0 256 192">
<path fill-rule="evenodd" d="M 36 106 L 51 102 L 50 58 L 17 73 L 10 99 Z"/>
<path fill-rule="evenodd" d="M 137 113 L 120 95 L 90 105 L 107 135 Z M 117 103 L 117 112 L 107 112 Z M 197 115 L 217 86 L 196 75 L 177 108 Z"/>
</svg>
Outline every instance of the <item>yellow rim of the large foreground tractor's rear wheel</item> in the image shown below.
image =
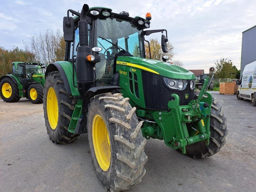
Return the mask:
<svg viewBox="0 0 256 192">
<path fill-rule="evenodd" d="M 56 93 L 52 87 L 48 89 L 47 98 L 46 98 L 46 109 L 47 109 L 47 117 L 51 128 L 54 130 L 58 124 L 58 100 Z"/>
</svg>

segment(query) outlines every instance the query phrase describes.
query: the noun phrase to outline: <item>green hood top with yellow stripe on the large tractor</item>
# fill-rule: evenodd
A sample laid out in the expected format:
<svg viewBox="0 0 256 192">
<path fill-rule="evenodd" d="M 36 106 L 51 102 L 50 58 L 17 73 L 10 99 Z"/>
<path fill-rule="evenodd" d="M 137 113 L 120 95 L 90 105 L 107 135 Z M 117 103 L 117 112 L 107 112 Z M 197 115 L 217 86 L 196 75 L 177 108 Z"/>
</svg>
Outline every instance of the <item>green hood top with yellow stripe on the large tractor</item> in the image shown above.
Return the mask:
<svg viewBox="0 0 256 192">
<path fill-rule="evenodd" d="M 164 61 L 140 57 L 118 56 L 116 64 L 140 68 L 172 79 L 196 79 L 196 76 L 191 71 Z"/>
</svg>

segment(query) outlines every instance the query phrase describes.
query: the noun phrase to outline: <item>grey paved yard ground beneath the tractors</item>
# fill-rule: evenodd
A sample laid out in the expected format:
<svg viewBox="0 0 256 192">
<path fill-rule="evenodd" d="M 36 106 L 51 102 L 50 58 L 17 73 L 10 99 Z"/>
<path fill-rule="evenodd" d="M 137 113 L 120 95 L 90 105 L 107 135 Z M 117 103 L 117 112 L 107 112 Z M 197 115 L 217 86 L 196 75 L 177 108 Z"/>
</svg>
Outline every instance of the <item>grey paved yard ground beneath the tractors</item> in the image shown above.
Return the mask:
<svg viewBox="0 0 256 192">
<path fill-rule="evenodd" d="M 256 191 L 256 107 L 236 95 L 212 92 L 228 117 L 226 145 L 192 159 L 148 140 L 141 183 L 127 192 Z M 44 125 L 43 105 L 0 100 L 0 191 L 104 192 L 93 170 L 87 135 L 56 145 Z"/>
</svg>

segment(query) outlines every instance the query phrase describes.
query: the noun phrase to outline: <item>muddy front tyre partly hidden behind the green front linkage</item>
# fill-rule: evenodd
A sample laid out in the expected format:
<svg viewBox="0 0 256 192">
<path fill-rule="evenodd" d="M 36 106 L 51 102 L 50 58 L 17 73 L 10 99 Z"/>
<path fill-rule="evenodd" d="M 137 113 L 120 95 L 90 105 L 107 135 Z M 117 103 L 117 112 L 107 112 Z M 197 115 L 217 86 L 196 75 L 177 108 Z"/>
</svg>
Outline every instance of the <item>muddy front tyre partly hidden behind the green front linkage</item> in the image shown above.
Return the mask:
<svg viewBox="0 0 256 192">
<path fill-rule="evenodd" d="M 194 158 L 205 158 L 216 154 L 225 145 L 225 138 L 228 135 L 227 118 L 223 115 L 222 107 L 218 104 L 216 98 L 213 98 L 212 101 L 210 132 L 211 138 L 208 146 L 205 145 L 204 141 L 188 145 L 186 146 L 186 155 Z"/>
</svg>

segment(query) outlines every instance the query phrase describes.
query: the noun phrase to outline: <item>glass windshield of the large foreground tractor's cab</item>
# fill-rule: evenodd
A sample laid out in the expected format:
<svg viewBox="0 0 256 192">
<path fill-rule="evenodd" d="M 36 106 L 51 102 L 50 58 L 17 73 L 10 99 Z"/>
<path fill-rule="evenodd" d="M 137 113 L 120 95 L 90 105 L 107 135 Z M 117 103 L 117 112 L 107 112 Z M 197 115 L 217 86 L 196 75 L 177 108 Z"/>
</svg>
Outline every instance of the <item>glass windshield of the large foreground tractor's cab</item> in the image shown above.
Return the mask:
<svg viewBox="0 0 256 192">
<path fill-rule="evenodd" d="M 102 48 L 99 53 L 100 62 L 96 64 L 96 82 L 97 86 L 108 85 L 114 72 L 115 55 L 121 49 L 100 37 L 128 51 L 133 57 L 144 58 L 142 30 L 129 21 L 118 18 L 96 19 L 95 29 L 97 30 L 94 31 L 94 47 Z"/>
</svg>

